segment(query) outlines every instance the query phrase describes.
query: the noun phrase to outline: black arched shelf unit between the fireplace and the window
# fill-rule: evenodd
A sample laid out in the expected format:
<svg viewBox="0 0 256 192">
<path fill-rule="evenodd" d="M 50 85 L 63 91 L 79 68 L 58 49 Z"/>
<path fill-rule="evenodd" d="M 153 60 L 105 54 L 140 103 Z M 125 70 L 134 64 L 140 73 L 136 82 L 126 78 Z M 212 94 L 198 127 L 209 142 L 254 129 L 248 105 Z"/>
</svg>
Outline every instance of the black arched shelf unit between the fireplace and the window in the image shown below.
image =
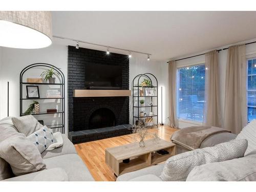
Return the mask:
<svg viewBox="0 0 256 192">
<path fill-rule="evenodd" d="M 138 74 L 132 81 L 133 87 L 133 124 L 139 119 L 153 118 L 153 124 L 145 122 L 146 127 L 158 126 L 158 81 L 151 73 Z M 154 95 L 144 95 L 147 88 L 154 89 Z M 143 93 L 143 94 L 142 94 Z M 144 98 L 144 99 L 143 99 Z M 145 100 L 150 99 L 151 105 L 147 105 Z M 142 105 L 141 105 L 142 104 Z M 152 114 L 143 114 L 141 109 L 150 109 Z M 154 111 L 154 113 L 153 113 Z M 144 113 L 144 112 L 143 112 Z M 154 123 L 155 122 L 155 123 Z M 150 124 L 150 125 L 147 125 Z"/>
</svg>

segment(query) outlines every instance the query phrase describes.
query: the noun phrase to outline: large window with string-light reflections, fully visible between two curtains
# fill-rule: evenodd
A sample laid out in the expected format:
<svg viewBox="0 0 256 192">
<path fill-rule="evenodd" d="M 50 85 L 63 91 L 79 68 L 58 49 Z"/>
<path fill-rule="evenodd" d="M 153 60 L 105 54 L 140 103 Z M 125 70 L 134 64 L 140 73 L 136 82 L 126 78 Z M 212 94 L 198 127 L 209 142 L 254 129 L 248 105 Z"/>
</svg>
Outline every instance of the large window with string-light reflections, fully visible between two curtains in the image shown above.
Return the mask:
<svg viewBox="0 0 256 192">
<path fill-rule="evenodd" d="M 178 69 L 177 117 L 192 121 L 203 121 L 205 65 Z"/>
</svg>

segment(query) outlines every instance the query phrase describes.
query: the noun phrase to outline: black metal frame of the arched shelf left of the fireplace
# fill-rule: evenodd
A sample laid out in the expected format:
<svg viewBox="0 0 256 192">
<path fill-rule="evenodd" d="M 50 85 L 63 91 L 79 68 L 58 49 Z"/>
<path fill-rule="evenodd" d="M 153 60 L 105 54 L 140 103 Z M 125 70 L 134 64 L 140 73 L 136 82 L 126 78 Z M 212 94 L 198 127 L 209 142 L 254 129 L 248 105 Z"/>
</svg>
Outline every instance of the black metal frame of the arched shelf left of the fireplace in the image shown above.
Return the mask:
<svg viewBox="0 0 256 192">
<path fill-rule="evenodd" d="M 33 69 L 33 68 L 53 68 L 59 76 L 59 83 L 47 83 L 47 82 L 24 82 L 23 81 L 23 76 L 24 74 L 26 74 L 27 71 Z M 56 97 L 56 98 L 46 98 L 46 97 L 40 97 L 40 98 L 23 98 L 23 86 L 25 85 L 36 85 L 36 86 L 49 86 L 49 85 L 57 85 L 60 86 L 59 89 L 61 92 L 61 97 Z M 58 110 L 57 112 L 53 112 L 53 113 L 47 113 L 47 112 L 40 112 L 38 114 L 31 114 L 31 115 L 47 115 L 47 114 L 60 114 L 61 115 L 61 123 L 58 124 L 53 124 L 53 125 L 47 125 L 48 128 L 50 129 L 61 129 L 61 133 L 65 133 L 65 76 L 62 73 L 62 71 L 60 71 L 59 68 L 48 64 L 48 63 L 34 63 L 32 65 L 27 66 L 26 68 L 24 68 L 19 75 L 19 115 L 20 116 L 24 116 L 25 114 L 23 113 L 23 101 L 24 100 L 37 100 L 37 99 L 60 99 L 60 104 L 61 104 L 61 109 Z"/>
</svg>

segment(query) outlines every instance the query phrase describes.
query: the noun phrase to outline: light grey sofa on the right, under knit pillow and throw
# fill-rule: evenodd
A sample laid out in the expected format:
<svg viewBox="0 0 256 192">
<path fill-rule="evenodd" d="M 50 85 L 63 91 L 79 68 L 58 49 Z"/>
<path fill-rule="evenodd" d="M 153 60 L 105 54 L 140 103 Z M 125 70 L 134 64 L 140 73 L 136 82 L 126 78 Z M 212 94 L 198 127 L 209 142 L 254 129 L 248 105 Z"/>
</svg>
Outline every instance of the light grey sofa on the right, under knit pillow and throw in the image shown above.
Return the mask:
<svg viewBox="0 0 256 192">
<path fill-rule="evenodd" d="M 231 133 L 220 133 L 205 139 L 200 148 L 235 139 Z M 176 154 L 187 152 L 177 146 Z M 162 181 L 159 176 L 164 164 L 143 168 L 135 172 L 123 174 L 117 181 Z M 195 167 L 188 175 L 187 181 L 256 181 L 256 151 L 243 158 L 229 161 L 208 163 Z"/>
</svg>

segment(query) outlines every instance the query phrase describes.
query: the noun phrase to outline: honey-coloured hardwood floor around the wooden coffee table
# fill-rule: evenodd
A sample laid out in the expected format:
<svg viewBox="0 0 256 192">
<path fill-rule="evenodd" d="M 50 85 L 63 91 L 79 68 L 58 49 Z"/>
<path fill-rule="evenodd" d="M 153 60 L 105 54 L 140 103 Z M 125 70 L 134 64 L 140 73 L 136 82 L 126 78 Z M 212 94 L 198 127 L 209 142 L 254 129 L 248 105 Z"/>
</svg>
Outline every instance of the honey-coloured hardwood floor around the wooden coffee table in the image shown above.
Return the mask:
<svg viewBox="0 0 256 192">
<path fill-rule="evenodd" d="M 150 129 L 149 132 L 152 134 L 157 133 L 161 139 L 169 141 L 170 136 L 177 130 L 164 125 L 159 126 L 158 129 Z M 153 136 L 147 137 L 147 139 L 150 138 L 153 138 Z M 113 171 L 105 163 L 105 148 L 132 142 L 135 142 L 134 134 L 75 144 L 75 148 L 96 181 L 115 181 L 116 178 Z"/>
</svg>

